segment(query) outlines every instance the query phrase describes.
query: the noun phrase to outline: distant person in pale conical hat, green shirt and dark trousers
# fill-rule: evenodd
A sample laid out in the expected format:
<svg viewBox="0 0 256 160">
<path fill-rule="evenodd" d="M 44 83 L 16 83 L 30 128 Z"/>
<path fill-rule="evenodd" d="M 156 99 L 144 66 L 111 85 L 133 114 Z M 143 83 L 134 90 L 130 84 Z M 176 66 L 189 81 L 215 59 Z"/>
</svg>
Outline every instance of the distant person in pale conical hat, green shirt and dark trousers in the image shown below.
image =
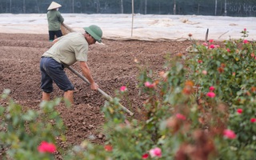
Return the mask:
<svg viewBox="0 0 256 160">
<path fill-rule="evenodd" d="M 61 25 L 64 22 L 62 14 L 58 11 L 58 8 L 62 5 L 57 2 L 51 2 L 48 7 L 47 12 L 47 21 L 48 21 L 48 30 L 49 30 L 49 41 L 54 41 L 54 37 L 62 37 Z"/>
</svg>

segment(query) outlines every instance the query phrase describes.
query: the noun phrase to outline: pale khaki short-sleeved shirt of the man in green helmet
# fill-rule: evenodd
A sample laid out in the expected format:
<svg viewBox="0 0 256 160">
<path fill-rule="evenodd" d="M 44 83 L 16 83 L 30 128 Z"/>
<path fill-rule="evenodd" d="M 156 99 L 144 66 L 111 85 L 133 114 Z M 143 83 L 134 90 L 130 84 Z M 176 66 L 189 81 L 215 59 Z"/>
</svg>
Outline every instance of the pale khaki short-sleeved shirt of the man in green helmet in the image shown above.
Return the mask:
<svg viewBox="0 0 256 160">
<path fill-rule="evenodd" d="M 74 62 L 87 62 L 88 42 L 83 34 L 71 32 L 58 39 L 42 57 L 54 58 L 57 62 L 73 65 Z"/>
</svg>

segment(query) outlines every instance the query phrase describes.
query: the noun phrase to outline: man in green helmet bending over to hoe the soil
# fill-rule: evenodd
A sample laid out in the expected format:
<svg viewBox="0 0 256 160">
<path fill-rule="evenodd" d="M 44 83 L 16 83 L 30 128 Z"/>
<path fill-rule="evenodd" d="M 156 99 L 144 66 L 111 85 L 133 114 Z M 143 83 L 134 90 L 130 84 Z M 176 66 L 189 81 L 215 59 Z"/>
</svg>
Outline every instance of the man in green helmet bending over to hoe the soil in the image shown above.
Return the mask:
<svg viewBox="0 0 256 160">
<path fill-rule="evenodd" d="M 87 65 L 89 46 L 95 42 L 102 42 L 102 29 L 91 25 L 83 28 L 84 33 L 71 32 L 60 38 L 54 39 L 54 45 L 50 47 L 40 60 L 42 101 L 50 101 L 50 93 L 53 92 L 53 82 L 64 91 L 64 98 L 74 104 L 74 86 L 64 71 L 65 66 L 71 66 L 79 62 L 82 74 L 90 82 L 91 90 L 98 90 L 98 84 L 90 73 Z"/>
</svg>

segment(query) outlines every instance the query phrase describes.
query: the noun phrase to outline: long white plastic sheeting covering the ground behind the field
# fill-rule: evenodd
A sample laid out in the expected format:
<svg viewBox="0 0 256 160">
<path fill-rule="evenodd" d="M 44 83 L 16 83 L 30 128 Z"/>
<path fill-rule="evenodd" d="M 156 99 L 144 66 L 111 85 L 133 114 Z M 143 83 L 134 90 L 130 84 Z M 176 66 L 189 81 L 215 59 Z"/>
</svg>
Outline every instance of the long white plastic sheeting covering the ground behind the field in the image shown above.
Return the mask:
<svg viewBox="0 0 256 160">
<path fill-rule="evenodd" d="M 188 34 L 194 39 L 222 41 L 242 38 L 240 33 L 249 31 L 247 40 L 256 38 L 256 18 L 198 16 L 198 15 L 152 15 L 134 14 L 62 14 L 64 23 L 83 32 L 82 27 L 92 24 L 103 30 L 103 38 L 148 41 L 186 40 Z M 131 32 L 133 30 L 133 32 Z M 1 33 L 48 34 L 46 14 L 0 14 Z"/>
</svg>

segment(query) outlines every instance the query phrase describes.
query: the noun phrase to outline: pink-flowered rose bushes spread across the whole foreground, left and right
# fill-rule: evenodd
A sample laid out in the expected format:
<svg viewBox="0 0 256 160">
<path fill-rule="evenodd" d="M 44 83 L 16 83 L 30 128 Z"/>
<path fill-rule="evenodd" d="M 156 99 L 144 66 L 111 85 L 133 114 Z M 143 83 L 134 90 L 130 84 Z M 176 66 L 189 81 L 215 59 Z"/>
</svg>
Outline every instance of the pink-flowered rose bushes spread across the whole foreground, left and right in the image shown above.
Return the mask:
<svg viewBox="0 0 256 160">
<path fill-rule="evenodd" d="M 64 150 L 66 159 L 251 159 L 256 157 L 255 42 L 230 39 L 223 46 L 194 42 L 194 54 L 166 58 L 166 71 L 143 69 L 138 88 L 143 108 L 128 117 L 120 107 L 128 90 L 102 108 L 106 145 L 82 142 Z M 191 38 L 191 37 L 190 37 Z M 186 59 L 189 59 L 186 61 Z M 2 98 L 8 98 L 2 94 Z M 0 145 L 10 158 L 53 158 L 38 154 L 39 142 L 55 142 L 62 121 L 54 106 L 22 111 L 10 100 L 0 107 Z M 51 122 L 53 120 L 53 122 Z M 39 157 L 38 157 L 39 156 Z"/>
</svg>

